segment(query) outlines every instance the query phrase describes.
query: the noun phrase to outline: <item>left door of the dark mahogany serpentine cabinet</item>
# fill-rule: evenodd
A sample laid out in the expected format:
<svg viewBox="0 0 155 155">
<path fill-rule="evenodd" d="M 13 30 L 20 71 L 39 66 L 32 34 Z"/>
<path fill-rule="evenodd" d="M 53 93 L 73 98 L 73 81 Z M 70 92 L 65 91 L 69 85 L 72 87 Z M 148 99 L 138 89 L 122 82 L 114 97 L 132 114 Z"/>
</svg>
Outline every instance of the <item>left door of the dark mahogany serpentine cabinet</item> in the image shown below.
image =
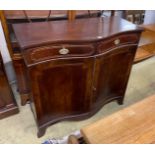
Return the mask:
<svg viewBox="0 0 155 155">
<path fill-rule="evenodd" d="M 29 68 L 39 125 L 89 112 L 93 65 L 92 58 L 76 58 L 50 60 Z"/>
</svg>

